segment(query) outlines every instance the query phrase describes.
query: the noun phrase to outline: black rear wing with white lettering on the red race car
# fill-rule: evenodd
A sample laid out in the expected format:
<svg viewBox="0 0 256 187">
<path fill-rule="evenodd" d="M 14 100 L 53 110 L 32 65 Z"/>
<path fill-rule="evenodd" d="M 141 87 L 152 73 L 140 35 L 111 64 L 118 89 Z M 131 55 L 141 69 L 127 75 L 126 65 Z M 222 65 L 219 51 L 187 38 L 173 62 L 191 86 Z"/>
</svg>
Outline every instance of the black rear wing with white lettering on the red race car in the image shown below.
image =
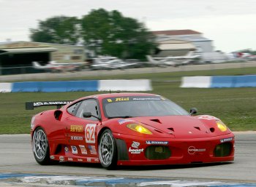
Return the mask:
<svg viewBox="0 0 256 187">
<path fill-rule="evenodd" d="M 34 110 L 35 107 L 39 106 L 57 106 L 57 108 L 61 108 L 61 106 L 65 106 L 68 103 L 71 103 L 72 100 L 59 100 L 59 101 L 31 101 L 26 102 L 26 110 Z"/>
</svg>

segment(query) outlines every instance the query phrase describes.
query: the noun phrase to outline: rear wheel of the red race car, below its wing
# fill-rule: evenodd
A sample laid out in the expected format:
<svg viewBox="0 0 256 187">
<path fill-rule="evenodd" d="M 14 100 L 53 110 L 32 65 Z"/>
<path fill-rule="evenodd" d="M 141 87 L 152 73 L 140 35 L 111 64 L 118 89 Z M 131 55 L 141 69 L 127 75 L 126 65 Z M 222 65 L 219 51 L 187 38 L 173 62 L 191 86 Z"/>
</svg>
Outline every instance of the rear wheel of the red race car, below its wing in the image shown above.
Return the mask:
<svg viewBox="0 0 256 187">
<path fill-rule="evenodd" d="M 34 154 L 34 159 L 36 159 L 38 164 L 48 165 L 56 163 L 56 161 L 50 160 L 50 148 L 48 138 L 42 127 L 38 127 L 34 131 L 32 139 L 32 150 Z"/>
</svg>

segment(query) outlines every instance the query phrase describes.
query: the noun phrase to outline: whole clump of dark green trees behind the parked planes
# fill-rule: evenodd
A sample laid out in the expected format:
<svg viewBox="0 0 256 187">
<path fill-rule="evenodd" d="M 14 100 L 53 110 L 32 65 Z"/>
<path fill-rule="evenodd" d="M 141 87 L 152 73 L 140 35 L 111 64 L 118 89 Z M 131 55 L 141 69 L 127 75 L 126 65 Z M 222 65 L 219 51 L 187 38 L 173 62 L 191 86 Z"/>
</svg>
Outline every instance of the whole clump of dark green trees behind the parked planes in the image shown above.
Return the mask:
<svg viewBox="0 0 256 187">
<path fill-rule="evenodd" d="M 78 17 L 55 16 L 39 20 L 30 29 L 31 41 L 54 44 L 83 44 L 95 55 L 112 55 L 122 59 L 143 59 L 157 46 L 154 35 L 143 23 L 121 12 L 92 9 Z"/>
</svg>

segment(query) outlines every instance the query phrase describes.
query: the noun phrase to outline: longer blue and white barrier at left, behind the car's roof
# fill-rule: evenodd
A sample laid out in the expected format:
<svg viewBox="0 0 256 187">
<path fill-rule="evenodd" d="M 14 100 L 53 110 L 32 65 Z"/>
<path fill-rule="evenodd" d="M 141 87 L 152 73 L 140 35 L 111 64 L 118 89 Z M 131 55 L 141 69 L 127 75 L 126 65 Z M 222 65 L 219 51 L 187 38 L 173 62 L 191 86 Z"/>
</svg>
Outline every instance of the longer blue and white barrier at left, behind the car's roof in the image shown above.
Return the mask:
<svg viewBox="0 0 256 187">
<path fill-rule="evenodd" d="M 151 80 L 24 81 L 0 83 L 0 92 L 150 91 Z"/>
</svg>

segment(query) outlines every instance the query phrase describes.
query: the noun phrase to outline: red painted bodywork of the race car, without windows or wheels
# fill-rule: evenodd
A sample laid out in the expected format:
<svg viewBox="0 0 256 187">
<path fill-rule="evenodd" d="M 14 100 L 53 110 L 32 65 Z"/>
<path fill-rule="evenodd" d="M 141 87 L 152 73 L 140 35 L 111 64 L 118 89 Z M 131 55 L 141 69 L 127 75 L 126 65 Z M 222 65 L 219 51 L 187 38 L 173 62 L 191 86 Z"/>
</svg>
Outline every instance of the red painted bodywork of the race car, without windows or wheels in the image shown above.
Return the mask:
<svg viewBox="0 0 256 187">
<path fill-rule="evenodd" d="M 99 163 L 98 140 L 107 128 L 116 139 L 118 165 L 233 161 L 234 135 L 228 128 L 225 132 L 219 130 L 219 119 L 213 116 L 147 116 L 129 119 L 108 119 L 105 116 L 103 99 L 136 95 L 151 94 L 93 95 L 75 100 L 58 110 L 43 111 L 32 119 L 31 138 L 34 130 L 42 127 L 48 137 L 50 159 L 64 162 Z M 102 120 L 78 118 L 67 112 L 73 103 L 86 99 L 97 100 Z M 153 134 L 146 135 L 128 129 L 127 124 L 131 122 L 143 124 Z M 221 152 L 225 148 L 218 146 L 222 144 L 229 149 L 224 155 Z M 151 152 L 154 152 L 153 156 Z M 163 154 L 167 156 L 161 157 Z"/>
</svg>

